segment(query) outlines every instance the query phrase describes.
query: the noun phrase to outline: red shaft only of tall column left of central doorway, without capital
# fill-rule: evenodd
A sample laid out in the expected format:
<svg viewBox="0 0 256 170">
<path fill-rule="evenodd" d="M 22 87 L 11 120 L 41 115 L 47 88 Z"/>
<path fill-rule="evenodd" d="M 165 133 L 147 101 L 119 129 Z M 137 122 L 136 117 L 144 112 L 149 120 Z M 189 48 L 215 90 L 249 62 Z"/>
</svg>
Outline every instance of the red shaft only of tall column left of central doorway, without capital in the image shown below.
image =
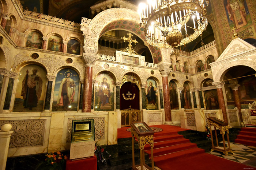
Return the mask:
<svg viewBox="0 0 256 170">
<path fill-rule="evenodd" d="M 93 85 L 93 67 L 85 67 L 85 79 L 83 89 L 83 112 L 91 112 L 91 92 Z"/>
</svg>

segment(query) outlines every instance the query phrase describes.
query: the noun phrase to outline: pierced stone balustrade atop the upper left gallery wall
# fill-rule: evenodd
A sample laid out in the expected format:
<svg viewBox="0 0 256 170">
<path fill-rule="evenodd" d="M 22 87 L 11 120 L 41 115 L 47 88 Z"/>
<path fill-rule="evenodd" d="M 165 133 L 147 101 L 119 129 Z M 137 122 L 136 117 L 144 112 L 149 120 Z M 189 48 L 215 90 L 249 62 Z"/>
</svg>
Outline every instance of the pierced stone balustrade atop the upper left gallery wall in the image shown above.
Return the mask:
<svg viewBox="0 0 256 170">
<path fill-rule="evenodd" d="M 66 26 L 66 27 L 68 26 L 68 27 L 80 29 L 80 24 L 79 23 L 75 23 L 75 22 L 72 22 L 72 21 L 60 19 L 60 18 L 57 18 L 57 17 L 49 16 L 49 15 L 44 15 L 44 14 L 33 12 L 33 11 L 27 11 L 25 9 L 23 9 L 23 15 L 27 16 L 27 17 L 32 17 L 34 19 L 39 19 L 39 20 L 52 22 L 54 24 L 60 24 L 60 25 Z"/>
</svg>

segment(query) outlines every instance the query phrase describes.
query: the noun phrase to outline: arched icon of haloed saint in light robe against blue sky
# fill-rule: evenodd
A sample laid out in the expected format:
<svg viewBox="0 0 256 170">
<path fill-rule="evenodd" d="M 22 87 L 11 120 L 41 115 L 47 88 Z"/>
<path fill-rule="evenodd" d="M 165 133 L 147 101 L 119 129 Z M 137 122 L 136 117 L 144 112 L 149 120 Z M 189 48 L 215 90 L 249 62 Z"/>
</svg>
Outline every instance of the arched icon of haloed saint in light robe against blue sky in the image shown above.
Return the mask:
<svg viewBox="0 0 256 170">
<path fill-rule="evenodd" d="M 79 76 L 72 69 L 64 68 L 55 80 L 52 111 L 77 111 Z"/>
</svg>

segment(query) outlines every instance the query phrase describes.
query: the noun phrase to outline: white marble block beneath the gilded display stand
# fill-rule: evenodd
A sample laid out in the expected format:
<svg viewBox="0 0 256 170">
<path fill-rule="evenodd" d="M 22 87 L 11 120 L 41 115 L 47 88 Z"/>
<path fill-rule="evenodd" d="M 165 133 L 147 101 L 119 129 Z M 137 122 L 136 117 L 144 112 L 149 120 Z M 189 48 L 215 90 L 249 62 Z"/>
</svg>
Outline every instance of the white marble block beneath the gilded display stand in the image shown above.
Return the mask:
<svg viewBox="0 0 256 170">
<path fill-rule="evenodd" d="M 92 157 L 94 155 L 94 147 L 95 141 L 71 143 L 69 159 Z"/>
</svg>

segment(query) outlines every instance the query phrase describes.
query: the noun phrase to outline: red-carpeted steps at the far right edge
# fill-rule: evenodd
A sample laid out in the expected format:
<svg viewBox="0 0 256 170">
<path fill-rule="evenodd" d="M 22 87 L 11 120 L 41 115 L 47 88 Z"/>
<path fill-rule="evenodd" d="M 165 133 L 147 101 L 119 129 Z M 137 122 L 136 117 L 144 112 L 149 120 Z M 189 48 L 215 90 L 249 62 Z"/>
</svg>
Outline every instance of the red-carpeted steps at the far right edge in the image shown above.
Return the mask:
<svg viewBox="0 0 256 170">
<path fill-rule="evenodd" d="M 256 128 L 243 127 L 235 139 L 236 143 L 256 146 Z"/>
</svg>

